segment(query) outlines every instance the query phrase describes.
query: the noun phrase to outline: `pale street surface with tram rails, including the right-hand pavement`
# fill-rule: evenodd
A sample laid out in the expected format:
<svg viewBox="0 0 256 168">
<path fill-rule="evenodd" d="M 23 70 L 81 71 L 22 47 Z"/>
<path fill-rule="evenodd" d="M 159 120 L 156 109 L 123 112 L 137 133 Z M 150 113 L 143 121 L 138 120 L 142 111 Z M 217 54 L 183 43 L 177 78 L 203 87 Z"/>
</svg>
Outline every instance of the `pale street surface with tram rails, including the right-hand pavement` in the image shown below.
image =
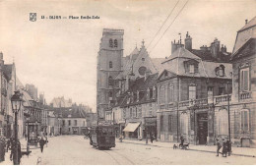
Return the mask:
<svg viewBox="0 0 256 168">
<path fill-rule="evenodd" d="M 215 146 L 191 145 L 189 150 L 172 149 L 172 143 L 154 141 L 116 141 L 110 150 L 98 150 L 82 136 L 61 136 L 49 138 L 43 153 L 32 148 L 29 157 L 23 156 L 22 165 L 164 165 L 164 164 L 255 164 L 254 148 L 233 147 L 234 155 L 216 157 Z M 236 152 L 236 153 L 235 153 Z M 246 153 L 246 156 L 242 156 Z M 6 154 L 4 164 L 12 164 Z M 204 159 L 202 159 L 204 158 Z"/>
</svg>

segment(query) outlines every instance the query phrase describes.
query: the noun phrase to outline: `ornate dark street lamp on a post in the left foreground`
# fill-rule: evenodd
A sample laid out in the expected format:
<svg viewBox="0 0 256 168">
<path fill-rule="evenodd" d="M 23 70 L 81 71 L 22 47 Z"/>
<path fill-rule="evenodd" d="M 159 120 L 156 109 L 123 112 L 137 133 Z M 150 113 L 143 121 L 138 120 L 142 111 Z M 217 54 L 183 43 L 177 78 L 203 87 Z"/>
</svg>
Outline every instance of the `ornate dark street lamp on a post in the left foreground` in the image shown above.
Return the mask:
<svg viewBox="0 0 256 168">
<path fill-rule="evenodd" d="M 11 97 L 11 102 L 12 102 L 12 109 L 13 109 L 13 113 L 15 114 L 15 151 L 13 153 L 13 162 L 14 165 L 20 165 L 20 161 L 19 161 L 19 156 L 18 156 L 18 119 L 17 119 L 17 114 L 20 112 L 21 110 L 21 105 L 22 105 L 22 98 L 21 98 L 21 93 L 20 91 L 15 91 L 14 95 Z"/>
</svg>

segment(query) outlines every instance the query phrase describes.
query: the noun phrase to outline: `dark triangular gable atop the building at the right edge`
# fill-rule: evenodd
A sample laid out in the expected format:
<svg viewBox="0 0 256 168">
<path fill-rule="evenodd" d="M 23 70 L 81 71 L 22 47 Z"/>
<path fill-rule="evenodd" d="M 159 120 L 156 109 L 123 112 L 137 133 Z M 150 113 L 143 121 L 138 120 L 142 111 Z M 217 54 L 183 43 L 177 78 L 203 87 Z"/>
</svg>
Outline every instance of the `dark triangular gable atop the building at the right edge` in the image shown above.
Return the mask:
<svg viewBox="0 0 256 168">
<path fill-rule="evenodd" d="M 243 58 L 247 55 L 256 53 L 256 38 L 250 38 L 245 44 L 243 44 L 230 58 L 235 60 Z"/>
</svg>

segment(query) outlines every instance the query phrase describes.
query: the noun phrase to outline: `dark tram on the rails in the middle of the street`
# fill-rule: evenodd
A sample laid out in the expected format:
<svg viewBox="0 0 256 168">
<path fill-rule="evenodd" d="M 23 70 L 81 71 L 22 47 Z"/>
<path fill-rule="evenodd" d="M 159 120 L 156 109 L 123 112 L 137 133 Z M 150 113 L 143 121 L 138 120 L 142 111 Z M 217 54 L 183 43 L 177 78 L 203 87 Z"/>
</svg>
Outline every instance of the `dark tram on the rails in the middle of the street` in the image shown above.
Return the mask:
<svg viewBox="0 0 256 168">
<path fill-rule="evenodd" d="M 115 147 L 114 126 L 96 126 L 90 131 L 90 144 L 98 149 Z"/>
</svg>

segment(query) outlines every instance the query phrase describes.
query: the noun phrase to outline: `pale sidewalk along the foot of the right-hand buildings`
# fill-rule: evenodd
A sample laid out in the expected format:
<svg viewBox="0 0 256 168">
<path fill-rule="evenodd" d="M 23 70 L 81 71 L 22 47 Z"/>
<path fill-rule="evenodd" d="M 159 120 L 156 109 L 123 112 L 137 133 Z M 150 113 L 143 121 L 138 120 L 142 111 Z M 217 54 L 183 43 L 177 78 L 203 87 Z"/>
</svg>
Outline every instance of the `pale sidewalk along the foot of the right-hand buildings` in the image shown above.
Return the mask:
<svg viewBox="0 0 256 168">
<path fill-rule="evenodd" d="M 118 139 L 116 141 L 119 142 Z M 178 142 L 163 142 L 163 141 L 156 141 L 156 140 L 154 140 L 153 143 L 151 143 L 151 141 L 149 140 L 148 144 L 146 144 L 146 140 L 127 140 L 127 139 L 124 139 L 123 142 L 124 143 L 134 143 L 134 144 L 141 144 L 141 145 L 171 148 L 171 149 L 173 147 L 173 144 L 178 144 Z M 189 150 L 192 150 L 192 151 L 216 153 L 216 149 L 217 149 L 216 145 L 189 144 Z M 244 157 L 255 157 L 256 148 L 232 146 L 231 155 L 244 156 Z"/>
</svg>

